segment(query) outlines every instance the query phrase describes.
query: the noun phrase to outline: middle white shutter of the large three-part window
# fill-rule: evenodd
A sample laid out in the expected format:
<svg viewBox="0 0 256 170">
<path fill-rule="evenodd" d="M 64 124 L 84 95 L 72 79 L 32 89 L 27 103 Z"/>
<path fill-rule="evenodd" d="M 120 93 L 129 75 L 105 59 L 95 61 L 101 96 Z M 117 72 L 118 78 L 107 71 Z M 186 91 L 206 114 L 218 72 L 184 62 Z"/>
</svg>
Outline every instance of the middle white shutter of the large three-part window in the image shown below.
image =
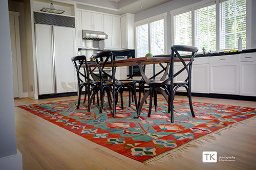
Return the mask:
<svg viewBox="0 0 256 170">
<path fill-rule="evenodd" d="M 195 7 L 195 46 L 198 52 L 216 51 L 216 5 L 215 1 Z"/>
</svg>

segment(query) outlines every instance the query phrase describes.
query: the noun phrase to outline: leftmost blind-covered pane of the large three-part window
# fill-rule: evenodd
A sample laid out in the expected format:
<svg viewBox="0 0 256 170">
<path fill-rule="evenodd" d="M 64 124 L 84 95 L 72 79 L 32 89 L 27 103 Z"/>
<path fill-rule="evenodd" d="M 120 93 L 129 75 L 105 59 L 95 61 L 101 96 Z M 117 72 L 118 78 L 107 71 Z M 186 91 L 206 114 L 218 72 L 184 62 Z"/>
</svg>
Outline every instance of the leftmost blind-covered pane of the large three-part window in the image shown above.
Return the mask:
<svg viewBox="0 0 256 170">
<path fill-rule="evenodd" d="M 174 45 L 192 45 L 191 9 L 174 14 Z"/>
</svg>

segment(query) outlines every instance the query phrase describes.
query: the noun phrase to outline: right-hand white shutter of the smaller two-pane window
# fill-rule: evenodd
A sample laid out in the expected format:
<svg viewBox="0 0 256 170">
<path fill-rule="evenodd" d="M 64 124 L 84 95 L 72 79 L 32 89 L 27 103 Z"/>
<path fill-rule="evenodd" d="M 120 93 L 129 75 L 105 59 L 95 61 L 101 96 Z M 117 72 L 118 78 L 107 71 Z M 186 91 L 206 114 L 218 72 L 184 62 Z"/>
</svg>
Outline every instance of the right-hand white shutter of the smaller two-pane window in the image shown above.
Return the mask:
<svg viewBox="0 0 256 170">
<path fill-rule="evenodd" d="M 153 55 L 164 54 L 163 17 L 150 21 L 150 52 Z"/>
</svg>

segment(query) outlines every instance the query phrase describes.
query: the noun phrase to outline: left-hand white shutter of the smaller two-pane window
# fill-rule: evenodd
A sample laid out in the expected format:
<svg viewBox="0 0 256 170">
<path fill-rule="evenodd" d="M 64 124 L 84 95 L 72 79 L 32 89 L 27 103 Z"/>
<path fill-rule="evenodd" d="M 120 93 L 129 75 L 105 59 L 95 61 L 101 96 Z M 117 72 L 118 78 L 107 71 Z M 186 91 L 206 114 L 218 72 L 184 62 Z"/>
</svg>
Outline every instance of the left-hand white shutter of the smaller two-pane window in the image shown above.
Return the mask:
<svg viewBox="0 0 256 170">
<path fill-rule="evenodd" d="M 145 57 L 148 53 L 148 23 L 136 25 L 136 56 Z"/>
</svg>

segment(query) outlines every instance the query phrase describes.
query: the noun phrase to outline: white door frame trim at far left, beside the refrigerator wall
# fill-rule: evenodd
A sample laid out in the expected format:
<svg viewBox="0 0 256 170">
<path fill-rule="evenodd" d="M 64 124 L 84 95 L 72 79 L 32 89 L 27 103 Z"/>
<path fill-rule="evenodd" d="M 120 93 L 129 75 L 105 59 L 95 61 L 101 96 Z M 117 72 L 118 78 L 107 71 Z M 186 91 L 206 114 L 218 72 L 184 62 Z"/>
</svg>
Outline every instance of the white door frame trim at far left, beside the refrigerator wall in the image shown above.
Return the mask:
<svg viewBox="0 0 256 170">
<path fill-rule="evenodd" d="M 18 71 L 18 93 L 19 98 L 27 98 L 28 92 L 23 92 L 23 80 L 22 80 L 22 57 L 20 52 L 20 39 L 19 39 L 19 12 L 9 11 L 9 15 L 14 16 L 14 26 L 15 26 L 15 40 L 16 40 L 16 55 L 17 55 L 17 71 Z"/>
</svg>

